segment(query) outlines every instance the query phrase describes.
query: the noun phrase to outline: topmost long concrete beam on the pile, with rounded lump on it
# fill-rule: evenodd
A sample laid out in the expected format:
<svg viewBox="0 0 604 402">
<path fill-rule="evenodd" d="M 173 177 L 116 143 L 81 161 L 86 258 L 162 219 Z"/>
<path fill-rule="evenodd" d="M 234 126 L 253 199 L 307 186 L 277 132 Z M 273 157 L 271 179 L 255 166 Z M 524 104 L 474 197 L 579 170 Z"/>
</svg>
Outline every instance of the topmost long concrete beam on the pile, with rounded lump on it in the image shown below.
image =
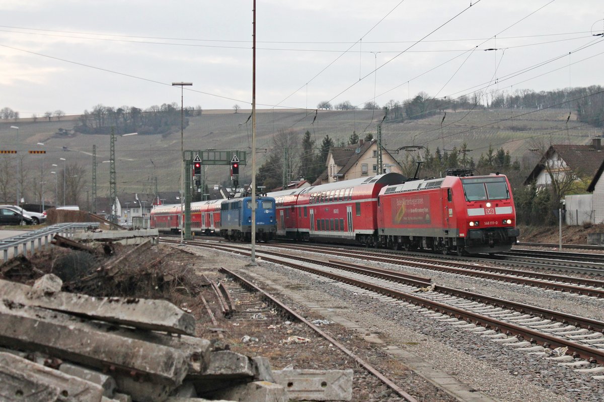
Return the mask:
<svg viewBox="0 0 604 402">
<path fill-rule="evenodd" d="M 50 283 L 50 279 L 43 283 Z M 28 297 L 30 294 L 36 297 Z M 150 331 L 195 334 L 194 316 L 165 300 L 91 297 L 68 292 L 40 295 L 39 292 L 32 293 L 30 286 L 6 280 L 0 280 L 0 295 L 25 306 L 75 313 L 115 324 Z"/>
</svg>

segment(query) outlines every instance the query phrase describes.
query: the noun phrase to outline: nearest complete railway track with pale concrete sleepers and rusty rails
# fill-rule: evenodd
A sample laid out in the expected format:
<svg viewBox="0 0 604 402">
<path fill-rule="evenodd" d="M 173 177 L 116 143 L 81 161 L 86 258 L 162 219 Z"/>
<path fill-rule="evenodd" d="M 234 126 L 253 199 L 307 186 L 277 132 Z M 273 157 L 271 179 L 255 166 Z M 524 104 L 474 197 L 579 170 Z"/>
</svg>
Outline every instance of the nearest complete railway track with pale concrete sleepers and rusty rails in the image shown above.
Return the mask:
<svg viewBox="0 0 604 402">
<path fill-rule="evenodd" d="M 239 245 L 194 243 L 190 244 L 250 254 L 246 247 Z M 577 367 L 604 363 L 602 321 L 438 286 L 417 277 L 405 277 L 369 266 L 318 262 L 316 259 L 287 255 L 283 251 L 261 251 L 257 255 L 270 262 L 328 277 L 359 291 L 374 292 L 382 297 L 382 301 L 416 309 L 431 318 L 451 322 L 490 339 L 501 339 L 504 344 L 519 350 L 546 357 L 547 351 L 555 348 L 561 351 L 561 356 L 555 357 L 556 361 L 567 361 Z M 577 361 L 576 358 L 582 360 Z M 588 372 L 598 374 L 604 372 L 604 367 L 591 367 Z M 604 377 L 595 375 L 594 378 Z"/>
</svg>

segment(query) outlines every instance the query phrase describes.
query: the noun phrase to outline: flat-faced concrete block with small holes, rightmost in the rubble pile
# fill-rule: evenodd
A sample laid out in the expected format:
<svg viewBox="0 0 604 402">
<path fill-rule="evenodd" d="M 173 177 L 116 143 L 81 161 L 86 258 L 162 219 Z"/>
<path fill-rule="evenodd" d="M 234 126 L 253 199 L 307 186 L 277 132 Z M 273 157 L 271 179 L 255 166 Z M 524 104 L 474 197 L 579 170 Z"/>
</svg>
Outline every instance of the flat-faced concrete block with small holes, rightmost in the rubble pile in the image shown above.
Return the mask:
<svg viewBox="0 0 604 402">
<path fill-rule="evenodd" d="M 350 401 L 352 369 L 347 370 L 274 370 L 275 382 L 297 401 Z"/>
</svg>

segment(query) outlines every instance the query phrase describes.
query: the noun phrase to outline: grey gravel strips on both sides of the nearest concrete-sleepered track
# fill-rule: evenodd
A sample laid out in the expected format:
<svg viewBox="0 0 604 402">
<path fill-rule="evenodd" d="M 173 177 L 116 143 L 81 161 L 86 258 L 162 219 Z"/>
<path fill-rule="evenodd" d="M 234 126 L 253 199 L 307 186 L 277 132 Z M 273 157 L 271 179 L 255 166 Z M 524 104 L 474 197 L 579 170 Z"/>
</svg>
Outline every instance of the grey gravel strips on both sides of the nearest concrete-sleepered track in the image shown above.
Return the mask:
<svg viewBox="0 0 604 402">
<path fill-rule="evenodd" d="M 262 247 L 259 248 L 259 253 L 261 250 Z M 232 254 L 224 255 L 229 260 L 246 260 L 245 257 L 231 257 Z M 603 400 L 602 382 L 591 379 L 589 375 L 579 374 L 541 357 L 495 344 L 477 334 L 426 318 L 405 307 L 356 295 L 342 287 L 333 286 L 330 281 L 318 279 L 315 275 L 265 263 L 261 257 L 259 262 L 257 267 L 245 268 L 249 274 L 254 274 L 255 278 L 265 277 L 271 283 L 278 283 L 288 289 L 286 293 L 292 297 L 299 295 L 321 306 L 330 307 L 339 315 L 357 322 L 372 333 L 380 334 L 388 344 L 411 351 L 489 397 L 504 401 Z M 445 286 L 471 288 L 477 292 L 520 302 L 528 300 L 530 304 L 597 319 L 602 319 L 603 315 L 603 303 L 599 300 L 460 275 L 429 272 L 425 269 L 397 269 L 432 277 L 432 281 Z M 260 286 L 262 287 L 262 284 Z"/>
</svg>

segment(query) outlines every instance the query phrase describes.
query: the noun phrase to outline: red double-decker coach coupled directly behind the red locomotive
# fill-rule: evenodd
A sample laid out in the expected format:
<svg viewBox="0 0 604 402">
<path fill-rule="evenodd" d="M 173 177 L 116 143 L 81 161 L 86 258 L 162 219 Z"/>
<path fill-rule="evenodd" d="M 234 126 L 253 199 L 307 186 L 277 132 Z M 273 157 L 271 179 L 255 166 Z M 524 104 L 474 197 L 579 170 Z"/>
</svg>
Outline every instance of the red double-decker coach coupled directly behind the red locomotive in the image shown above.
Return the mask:
<svg viewBox="0 0 604 402">
<path fill-rule="evenodd" d="M 297 195 L 297 228 L 301 239 L 377 242 L 377 194 L 403 175 L 387 173 L 306 187 Z"/>
</svg>

